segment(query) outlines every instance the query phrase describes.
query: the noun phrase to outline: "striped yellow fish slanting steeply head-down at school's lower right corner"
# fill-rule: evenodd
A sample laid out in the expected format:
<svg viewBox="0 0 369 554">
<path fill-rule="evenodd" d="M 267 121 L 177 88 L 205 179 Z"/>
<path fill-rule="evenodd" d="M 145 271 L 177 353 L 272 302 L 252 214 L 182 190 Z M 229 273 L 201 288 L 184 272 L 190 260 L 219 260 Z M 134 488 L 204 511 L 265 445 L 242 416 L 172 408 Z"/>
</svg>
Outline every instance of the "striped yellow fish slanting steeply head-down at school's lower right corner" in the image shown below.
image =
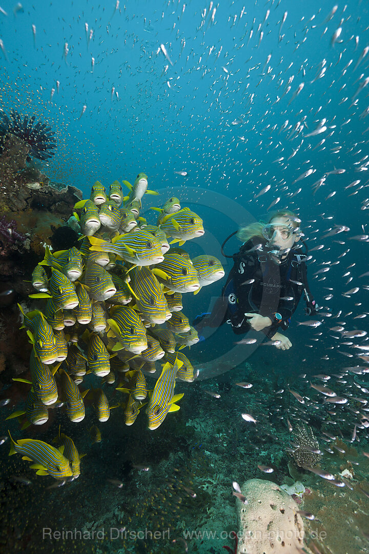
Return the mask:
<svg viewBox="0 0 369 554">
<path fill-rule="evenodd" d="M 147 416 L 149 429 L 157 429 L 167 417 L 168 412 L 176 412 L 179 406 L 175 404 L 183 394 L 174 396 L 175 378 L 182 363 L 175 360 L 174 364 L 165 363 L 162 373 L 150 394 Z"/>
</svg>

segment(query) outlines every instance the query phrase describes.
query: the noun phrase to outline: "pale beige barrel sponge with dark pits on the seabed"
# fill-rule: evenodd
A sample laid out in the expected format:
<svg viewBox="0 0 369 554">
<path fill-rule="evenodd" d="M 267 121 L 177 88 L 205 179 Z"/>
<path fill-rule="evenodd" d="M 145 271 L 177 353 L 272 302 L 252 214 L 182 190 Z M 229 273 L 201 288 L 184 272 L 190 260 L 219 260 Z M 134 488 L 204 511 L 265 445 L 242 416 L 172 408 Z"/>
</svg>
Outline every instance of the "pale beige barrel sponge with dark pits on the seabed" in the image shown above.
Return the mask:
<svg viewBox="0 0 369 554">
<path fill-rule="evenodd" d="M 246 481 L 241 491 L 248 503 L 237 500 L 237 554 L 298 554 L 304 522 L 292 496 L 263 479 Z"/>
</svg>

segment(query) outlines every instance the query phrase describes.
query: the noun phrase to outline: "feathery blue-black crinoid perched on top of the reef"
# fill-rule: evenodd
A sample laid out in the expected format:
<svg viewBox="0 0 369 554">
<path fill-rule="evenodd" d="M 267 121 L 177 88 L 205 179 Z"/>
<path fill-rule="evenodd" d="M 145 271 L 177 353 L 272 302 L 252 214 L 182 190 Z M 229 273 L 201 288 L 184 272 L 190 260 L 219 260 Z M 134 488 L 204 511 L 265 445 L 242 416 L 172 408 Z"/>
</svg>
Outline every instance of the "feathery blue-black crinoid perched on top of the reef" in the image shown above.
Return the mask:
<svg viewBox="0 0 369 554">
<path fill-rule="evenodd" d="M 10 117 L 0 111 L 0 153 L 3 150 L 3 142 L 6 135 L 15 135 L 22 139 L 30 147 L 29 156 L 38 160 L 47 160 L 54 156 L 56 146 L 55 134 L 46 123 L 38 121 L 35 125 L 36 116 L 28 119 L 25 115 L 18 114 L 12 110 Z"/>
</svg>

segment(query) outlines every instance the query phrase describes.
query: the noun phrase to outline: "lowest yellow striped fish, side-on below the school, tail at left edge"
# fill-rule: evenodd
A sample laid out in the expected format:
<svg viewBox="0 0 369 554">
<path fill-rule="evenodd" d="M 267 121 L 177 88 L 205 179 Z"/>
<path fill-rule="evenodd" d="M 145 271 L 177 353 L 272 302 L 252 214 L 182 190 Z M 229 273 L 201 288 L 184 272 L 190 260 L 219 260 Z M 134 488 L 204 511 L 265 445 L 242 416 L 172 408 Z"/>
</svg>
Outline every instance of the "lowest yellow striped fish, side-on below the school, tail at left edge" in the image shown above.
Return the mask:
<svg viewBox="0 0 369 554">
<path fill-rule="evenodd" d="M 15 442 L 11 438 L 11 450 L 9 456 L 18 453 L 22 460 L 35 462 L 30 468 L 36 469 L 37 475 L 51 475 L 54 479 L 65 479 L 72 476 L 69 461 L 63 456 L 63 447 L 56 449 L 43 440 L 20 439 Z"/>
</svg>

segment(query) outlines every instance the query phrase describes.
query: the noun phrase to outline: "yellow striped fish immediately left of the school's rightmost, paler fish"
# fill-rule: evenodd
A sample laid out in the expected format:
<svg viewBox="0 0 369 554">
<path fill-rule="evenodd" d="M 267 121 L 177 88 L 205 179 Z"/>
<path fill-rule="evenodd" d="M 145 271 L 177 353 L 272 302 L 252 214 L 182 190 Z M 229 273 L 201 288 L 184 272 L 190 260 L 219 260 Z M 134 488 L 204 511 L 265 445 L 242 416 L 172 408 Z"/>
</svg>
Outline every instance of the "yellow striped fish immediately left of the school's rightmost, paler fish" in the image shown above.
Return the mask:
<svg viewBox="0 0 369 554">
<path fill-rule="evenodd" d="M 180 254 L 164 254 L 164 260 L 154 269 L 159 283 L 177 293 L 193 293 L 200 287 L 196 270 L 192 263 L 185 260 Z"/>
</svg>

